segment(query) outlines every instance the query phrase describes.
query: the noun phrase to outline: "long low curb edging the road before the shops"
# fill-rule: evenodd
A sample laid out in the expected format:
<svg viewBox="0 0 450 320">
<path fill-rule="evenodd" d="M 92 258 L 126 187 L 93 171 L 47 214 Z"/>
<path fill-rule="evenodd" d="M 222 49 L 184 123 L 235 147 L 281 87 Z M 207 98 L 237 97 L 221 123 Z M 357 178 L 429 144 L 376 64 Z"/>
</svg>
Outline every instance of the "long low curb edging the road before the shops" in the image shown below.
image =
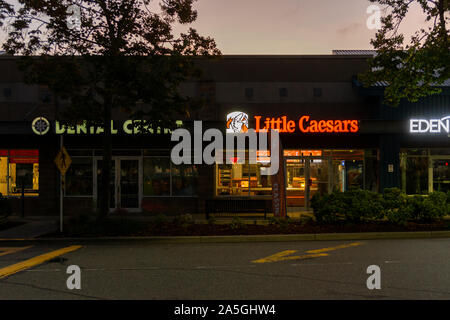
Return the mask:
<svg viewBox="0 0 450 320">
<path fill-rule="evenodd" d="M 242 243 L 242 242 L 287 242 L 287 241 L 331 241 L 331 240 L 376 240 L 376 239 L 429 239 L 450 238 L 450 231 L 409 232 L 364 232 L 364 233 L 316 233 L 233 236 L 158 236 L 158 237 L 96 237 L 96 238 L 31 238 L 0 239 L 1 242 L 146 242 L 170 243 Z"/>
</svg>

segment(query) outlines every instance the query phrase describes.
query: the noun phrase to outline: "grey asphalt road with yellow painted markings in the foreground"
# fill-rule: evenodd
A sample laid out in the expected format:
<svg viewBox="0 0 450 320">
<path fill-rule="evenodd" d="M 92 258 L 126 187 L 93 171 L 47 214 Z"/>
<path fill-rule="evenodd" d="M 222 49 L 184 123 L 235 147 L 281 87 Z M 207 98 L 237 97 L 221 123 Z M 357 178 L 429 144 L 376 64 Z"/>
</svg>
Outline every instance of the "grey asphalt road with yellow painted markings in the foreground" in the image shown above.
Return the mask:
<svg viewBox="0 0 450 320">
<path fill-rule="evenodd" d="M 0 243 L 0 299 L 450 299 L 449 238 L 74 245 Z"/>
</svg>

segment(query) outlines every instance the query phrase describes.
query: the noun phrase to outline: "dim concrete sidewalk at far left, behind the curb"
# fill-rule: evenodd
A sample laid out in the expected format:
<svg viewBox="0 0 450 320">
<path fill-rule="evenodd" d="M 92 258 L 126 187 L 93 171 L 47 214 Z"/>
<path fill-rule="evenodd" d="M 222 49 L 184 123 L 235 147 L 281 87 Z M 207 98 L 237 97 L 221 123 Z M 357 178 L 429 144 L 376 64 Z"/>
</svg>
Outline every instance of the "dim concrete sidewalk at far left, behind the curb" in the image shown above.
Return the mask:
<svg viewBox="0 0 450 320">
<path fill-rule="evenodd" d="M 0 239 L 32 239 L 58 230 L 56 220 L 51 217 L 33 217 L 29 219 L 11 217 L 10 220 L 25 223 L 0 231 Z"/>
</svg>

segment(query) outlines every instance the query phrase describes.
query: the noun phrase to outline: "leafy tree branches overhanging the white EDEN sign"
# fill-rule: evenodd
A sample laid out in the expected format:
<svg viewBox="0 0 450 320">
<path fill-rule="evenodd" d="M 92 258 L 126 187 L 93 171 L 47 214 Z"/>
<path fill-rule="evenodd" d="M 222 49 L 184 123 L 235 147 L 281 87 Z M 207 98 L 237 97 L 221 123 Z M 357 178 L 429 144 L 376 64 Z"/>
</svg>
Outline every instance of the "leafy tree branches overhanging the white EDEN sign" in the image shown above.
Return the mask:
<svg viewBox="0 0 450 320">
<path fill-rule="evenodd" d="M 386 6 L 371 44 L 377 55 L 369 60 L 369 71 L 359 79 L 365 86 L 385 82 L 385 103 L 398 106 L 402 99 L 416 102 L 442 91 L 450 78 L 449 0 L 370 0 Z M 420 5 L 428 23 L 409 42 L 399 27 L 413 4 Z"/>
</svg>

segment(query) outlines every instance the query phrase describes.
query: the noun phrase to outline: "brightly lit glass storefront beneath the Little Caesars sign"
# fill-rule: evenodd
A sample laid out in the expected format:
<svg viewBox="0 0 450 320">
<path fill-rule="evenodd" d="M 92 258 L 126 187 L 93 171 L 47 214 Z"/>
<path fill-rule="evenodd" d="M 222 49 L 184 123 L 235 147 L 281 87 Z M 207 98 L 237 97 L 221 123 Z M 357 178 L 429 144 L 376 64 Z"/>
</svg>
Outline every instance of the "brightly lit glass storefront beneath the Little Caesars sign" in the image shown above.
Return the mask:
<svg viewBox="0 0 450 320">
<path fill-rule="evenodd" d="M 305 206 L 308 183 L 309 197 L 315 193 L 345 191 L 352 187 L 378 191 L 376 149 L 299 149 L 284 150 L 284 155 L 288 206 Z M 268 152 L 259 151 L 258 164 L 217 165 L 216 195 L 271 195 L 271 177 L 261 175 L 261 171 L 270 166 L 268 156 Z"/>
</svg>

